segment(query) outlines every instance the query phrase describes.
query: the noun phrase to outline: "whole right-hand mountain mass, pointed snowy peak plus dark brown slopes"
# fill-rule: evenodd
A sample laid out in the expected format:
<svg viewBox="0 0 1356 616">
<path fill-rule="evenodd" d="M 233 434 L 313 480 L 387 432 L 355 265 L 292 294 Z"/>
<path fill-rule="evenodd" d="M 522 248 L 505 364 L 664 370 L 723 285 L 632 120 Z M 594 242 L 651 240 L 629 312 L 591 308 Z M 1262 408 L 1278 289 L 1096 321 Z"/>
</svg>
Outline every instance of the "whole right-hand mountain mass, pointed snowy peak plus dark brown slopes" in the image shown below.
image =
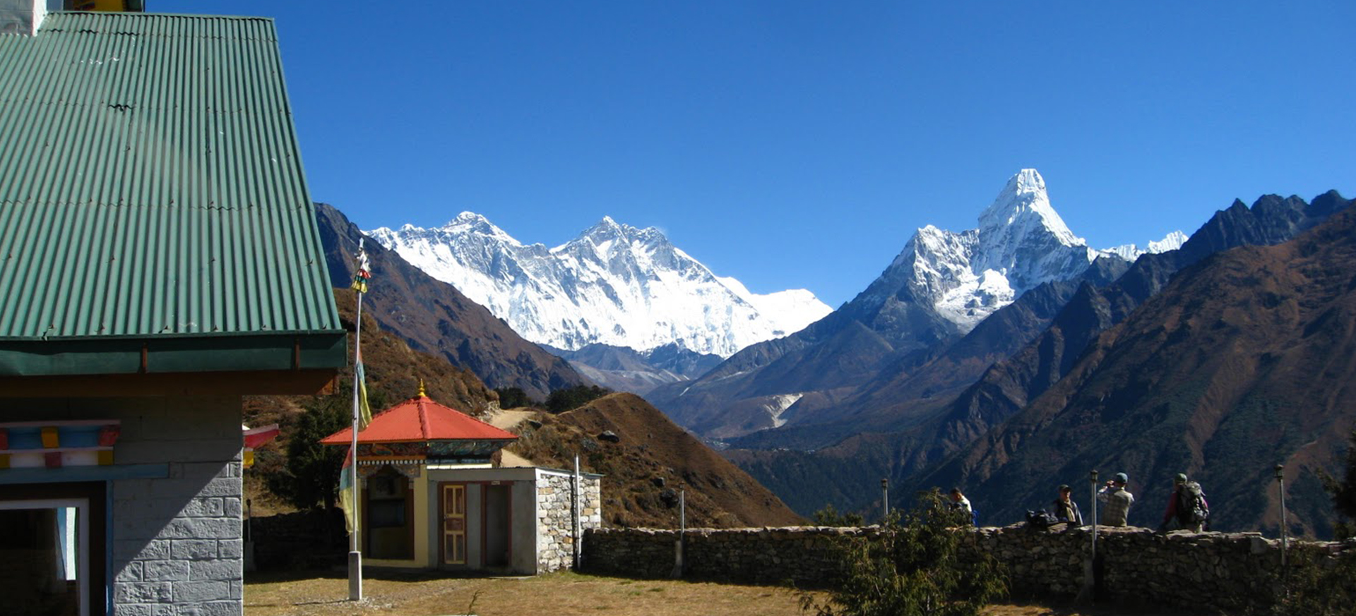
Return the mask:
<svg viewBox="0 0 1356 616">
<path fill-rule="evenodd" d="M 1188 471 L 1234 512 L 1219 528 L 1258 528 L 1276 506 L 1256 489 L 1262 471 L 1242 463 L 1272 456 L 1304 512 L 1295 531 L 1323 533 L 1332 514 L 1309 470 L 1332 468 L 1356 424 L 1338 408 L 1352 329 L 1341 283 L 1356 288 L 1341 248 L 1349 203 L 1336 192 L 1235 200 L 1185 241 L 1150 242 L 1162 252 L 1097 250 L 1022 171 L 978 229 L 919 229 L 871 287 L 800 332 L 724 360 L 682 343 L 555 351 L 656 386 L 647 398 L 720 439 L 803 514 L 879 506 L 884 477 L 892 494 L 964 486 L 982 521 L 1006 523 L 1048 500 L 1045 483 L 1073 483 L 1092 464 L 1131 472 L 1151 501 Z M 1252 261 L 1235 253 L 1253 252 L 1271 265 L 1245 271 Z M 1215 272 L 1219 263 L 1233 269 Z M 1131 521 L 1153 521 L 1155 508 Z"/>
</svg>

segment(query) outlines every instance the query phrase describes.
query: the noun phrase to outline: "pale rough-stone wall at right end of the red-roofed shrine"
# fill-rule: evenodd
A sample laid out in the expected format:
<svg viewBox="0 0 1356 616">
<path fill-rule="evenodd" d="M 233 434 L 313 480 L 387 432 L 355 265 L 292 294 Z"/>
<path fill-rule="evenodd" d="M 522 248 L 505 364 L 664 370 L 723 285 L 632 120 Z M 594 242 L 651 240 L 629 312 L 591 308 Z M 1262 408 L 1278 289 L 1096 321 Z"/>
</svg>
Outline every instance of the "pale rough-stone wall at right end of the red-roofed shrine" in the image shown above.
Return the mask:
<svg viewBox="0 0 1356 616">
<path fill-rule="evenodd" d="M 563 472 L 537 474 L 537 573 L 570 569 L 574 563 L 571 482 Z M 580 532 L 602 525 L 599 475 L 580 475 Z"/>
</svg>

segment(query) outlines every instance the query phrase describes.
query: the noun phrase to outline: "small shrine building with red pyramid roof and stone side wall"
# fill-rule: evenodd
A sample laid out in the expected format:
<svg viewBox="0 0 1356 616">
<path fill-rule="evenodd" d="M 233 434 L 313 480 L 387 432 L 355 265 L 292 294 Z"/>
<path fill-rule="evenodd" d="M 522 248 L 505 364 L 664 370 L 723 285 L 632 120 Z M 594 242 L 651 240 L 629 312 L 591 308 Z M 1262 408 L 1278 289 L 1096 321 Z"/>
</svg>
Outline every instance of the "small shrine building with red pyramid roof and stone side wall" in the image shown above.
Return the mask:
<svg viewBox="0 0 1356 616">
<path fill-rule="evenodd" d="M 324 437 L 348 447 L 353 428 Z M 504 467 L 517 436 L 424 395 L 358 432 L 359 537 L 373 567 L 570 569 L 584 528 L 602 524 L 602 475 Z M 576 523 L 578 520 L 578 523 Z"/>
</svg>

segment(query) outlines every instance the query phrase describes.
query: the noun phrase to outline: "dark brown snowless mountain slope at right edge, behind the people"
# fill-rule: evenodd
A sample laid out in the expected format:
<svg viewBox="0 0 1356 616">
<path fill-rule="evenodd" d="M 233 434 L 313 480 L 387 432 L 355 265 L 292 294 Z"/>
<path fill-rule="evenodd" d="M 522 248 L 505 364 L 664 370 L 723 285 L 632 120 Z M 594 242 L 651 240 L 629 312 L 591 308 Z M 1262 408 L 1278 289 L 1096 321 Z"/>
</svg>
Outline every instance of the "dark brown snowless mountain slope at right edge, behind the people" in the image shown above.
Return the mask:
<svg viewBox="0 0 1356 616">
<path fill-rule="evenodd" d="M 1092 468 L 1125 471 L 1139 498 L 1131 523 L 1157 525 L 1172 477 L 1188 472 L 1205 486 L 1215 528 L 1275 528 L 1272 464 L 1284 463 L 1294 529 L 1325 535 L 1332 508 L 1309 468 L 1333 468 L 1356 425 L 1353 357 L 1348 208 L 1294 241 L 1184 269 L 921 483 L 964 485 L 1005 521 Z"/>
</svg>

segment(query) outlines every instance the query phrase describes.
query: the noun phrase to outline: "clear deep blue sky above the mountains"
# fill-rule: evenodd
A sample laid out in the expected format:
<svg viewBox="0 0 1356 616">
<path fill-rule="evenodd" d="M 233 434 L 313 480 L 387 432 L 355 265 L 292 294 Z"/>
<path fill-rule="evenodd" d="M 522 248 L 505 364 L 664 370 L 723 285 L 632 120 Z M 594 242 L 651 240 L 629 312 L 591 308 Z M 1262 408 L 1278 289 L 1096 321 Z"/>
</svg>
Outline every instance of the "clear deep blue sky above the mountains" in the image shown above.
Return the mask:
<svg viewBox="0 0 1356 616">
<path fill-rule="evenodd" d="M 1025 167 L 1097 248 L 1356 196 L 1351 1 L 146 4 L 277 19 L 312 196 L 363 229 L 612 215 L 831 306 Z"/>
</svg>

